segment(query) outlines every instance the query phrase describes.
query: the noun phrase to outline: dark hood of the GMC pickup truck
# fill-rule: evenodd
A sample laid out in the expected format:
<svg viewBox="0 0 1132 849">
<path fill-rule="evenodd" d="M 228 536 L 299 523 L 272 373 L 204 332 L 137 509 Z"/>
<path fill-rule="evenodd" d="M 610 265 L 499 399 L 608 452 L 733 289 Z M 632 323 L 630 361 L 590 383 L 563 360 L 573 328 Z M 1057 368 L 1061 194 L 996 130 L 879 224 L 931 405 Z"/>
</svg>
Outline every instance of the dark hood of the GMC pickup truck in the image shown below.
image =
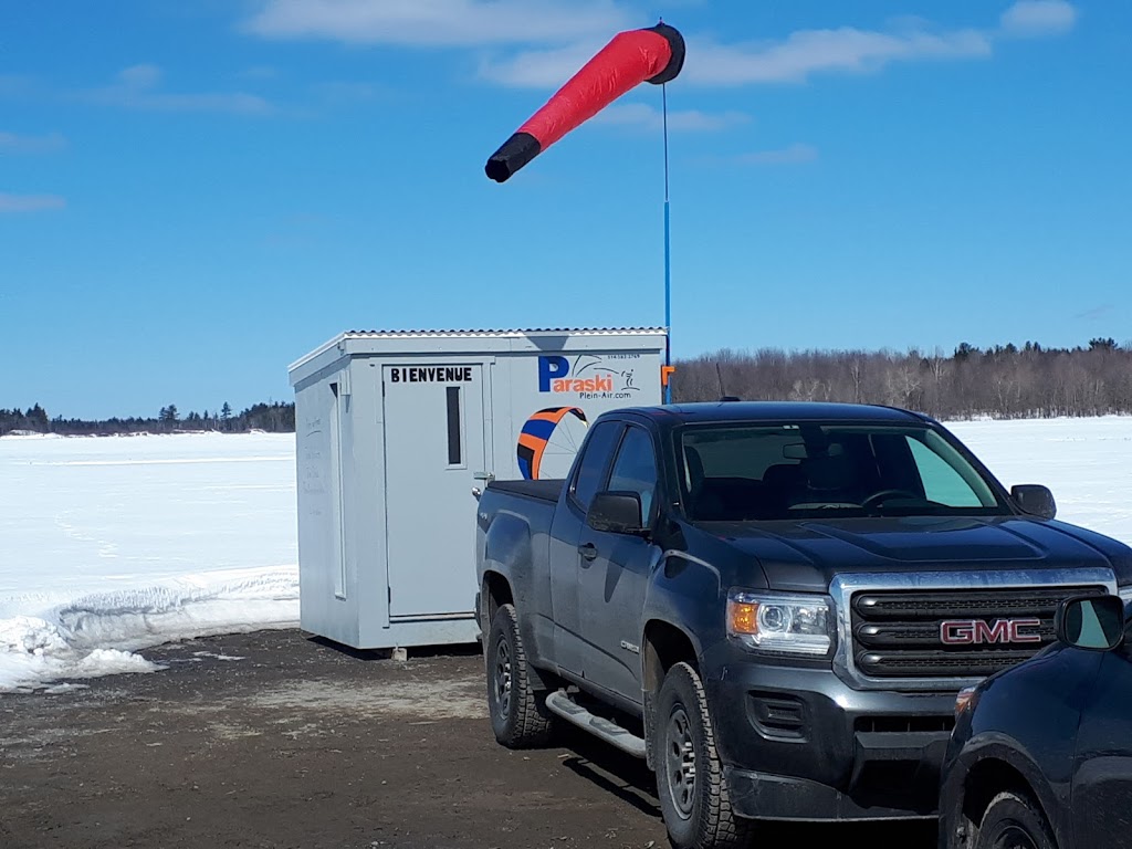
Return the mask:
<svg viewBox="0 0 1132 849">
<path fill-rule="evenodd" d="M 753 556 L 772 590 L 825 592 L 834 575 L 883 572 L 1034 571 L 1107 567 L 1132 582 L 1127 564 L 1106 556 L 1099 538 L 1060 522 L 1020 516 L 861 517 L 717 526 L 717 535 Z M 1118 567 L 1118 568 L 1117 568 Z"/>
</svg>

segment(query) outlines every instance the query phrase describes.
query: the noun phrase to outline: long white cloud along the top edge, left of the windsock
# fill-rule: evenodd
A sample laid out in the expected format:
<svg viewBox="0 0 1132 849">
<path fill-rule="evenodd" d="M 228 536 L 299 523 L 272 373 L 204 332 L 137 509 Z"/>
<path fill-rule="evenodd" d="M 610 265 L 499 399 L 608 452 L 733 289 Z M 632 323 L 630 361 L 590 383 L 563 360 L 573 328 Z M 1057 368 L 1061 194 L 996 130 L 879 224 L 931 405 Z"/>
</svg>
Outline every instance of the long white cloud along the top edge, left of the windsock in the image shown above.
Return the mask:
<svg viewBox="0 0 1132 849">
<path fill-rule="evenodd" d="M 268 38 L 471 46 L 571 42 L 629 20 L 611 0 L 261 0 L 245 26 Z"/>
</svg>

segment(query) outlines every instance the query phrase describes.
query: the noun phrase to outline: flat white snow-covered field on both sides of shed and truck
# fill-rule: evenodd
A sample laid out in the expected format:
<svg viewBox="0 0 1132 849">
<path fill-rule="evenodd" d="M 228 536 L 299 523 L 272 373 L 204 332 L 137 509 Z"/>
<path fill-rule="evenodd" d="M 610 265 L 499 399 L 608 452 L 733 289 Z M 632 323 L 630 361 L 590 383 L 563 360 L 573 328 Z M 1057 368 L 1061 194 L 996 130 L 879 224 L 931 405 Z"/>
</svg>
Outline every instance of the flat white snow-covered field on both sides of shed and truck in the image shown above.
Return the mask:
<svg viewBox="0 0 1132 849">
<path fill-rule="evenodd" d="M 1132 543 L 1132 418 L 954 422 L 998 479 Z M 0 693 L 299 618 L 293 435 L 0 439 Z"/>
</svg>

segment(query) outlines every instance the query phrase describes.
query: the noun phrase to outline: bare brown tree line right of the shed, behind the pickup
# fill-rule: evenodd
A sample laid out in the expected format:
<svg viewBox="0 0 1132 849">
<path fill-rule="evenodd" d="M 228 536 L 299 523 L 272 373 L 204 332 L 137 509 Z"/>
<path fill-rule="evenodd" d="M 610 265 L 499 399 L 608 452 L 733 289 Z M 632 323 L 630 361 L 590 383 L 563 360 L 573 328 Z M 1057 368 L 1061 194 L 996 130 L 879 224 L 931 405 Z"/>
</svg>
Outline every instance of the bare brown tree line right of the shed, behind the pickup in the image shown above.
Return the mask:
<svg viewBox="0 0 1132 849">
<path fill-rule="evenodd" d="M 951 354 L 723 350 L 675 365 L 676 401 L 864 402 L 938 419 L 1132 413 L 1132 345 L 1113 338 L 1072 349 L 964 342 Z"/>
</svg>

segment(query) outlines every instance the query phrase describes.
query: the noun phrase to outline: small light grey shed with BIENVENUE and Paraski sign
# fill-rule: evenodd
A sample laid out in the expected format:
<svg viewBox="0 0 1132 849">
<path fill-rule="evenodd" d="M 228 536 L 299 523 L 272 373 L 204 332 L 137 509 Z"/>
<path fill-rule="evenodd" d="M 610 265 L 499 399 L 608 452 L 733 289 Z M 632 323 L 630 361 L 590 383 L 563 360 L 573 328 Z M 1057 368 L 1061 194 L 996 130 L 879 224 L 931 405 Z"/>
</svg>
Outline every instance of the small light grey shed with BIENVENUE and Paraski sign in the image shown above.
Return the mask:
<svg viewBox="0 0 1132 849">
<path fill-rule="evenodd" d="M 661 402 L 659 328 L 349 332 L 290 368 L 301 627 L 471 643 L 472 489 L 565 477 L 589 422 Z"/>
</svg>

